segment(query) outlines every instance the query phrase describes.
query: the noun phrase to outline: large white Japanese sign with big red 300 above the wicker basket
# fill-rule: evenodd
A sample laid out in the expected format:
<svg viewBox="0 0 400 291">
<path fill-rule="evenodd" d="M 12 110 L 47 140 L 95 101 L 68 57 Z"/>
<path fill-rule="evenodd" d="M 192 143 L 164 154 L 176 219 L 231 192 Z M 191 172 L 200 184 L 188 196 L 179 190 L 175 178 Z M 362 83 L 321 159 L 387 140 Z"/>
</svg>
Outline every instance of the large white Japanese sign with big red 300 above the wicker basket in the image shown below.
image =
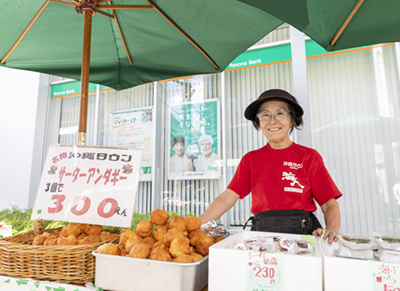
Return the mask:
<svg viewBox="0 0 400 291">
<path fill-rule="evenodd" d="M 141 158 L 134 150 L 50 147 L 31 219 L 130 227 Z"/>
</svg>

